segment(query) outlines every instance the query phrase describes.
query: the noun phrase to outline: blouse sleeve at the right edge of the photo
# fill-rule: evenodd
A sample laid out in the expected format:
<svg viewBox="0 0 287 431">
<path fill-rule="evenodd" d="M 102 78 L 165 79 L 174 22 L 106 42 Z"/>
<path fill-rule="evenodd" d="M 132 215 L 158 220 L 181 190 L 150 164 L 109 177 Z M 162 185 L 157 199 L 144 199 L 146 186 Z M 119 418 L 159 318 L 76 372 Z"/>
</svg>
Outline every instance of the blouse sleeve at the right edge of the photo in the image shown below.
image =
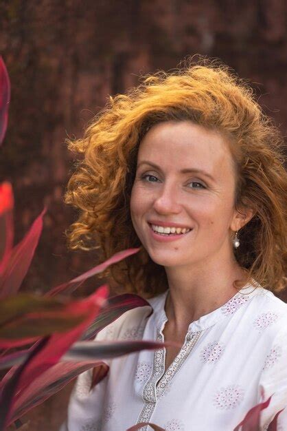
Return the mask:
<svg viewBox="0 0 287 431">
<path fill-rule="evenodd" d="M 287 319 L 284 320 L 266 356 L 260 377 L 260 403 L 272 395 L 268 407 L 262 410 L 260 430 L 267 430 L 277 412 L 284 409 L 279 413 L 277 429 L 287 431 Z"/>
</svg>

